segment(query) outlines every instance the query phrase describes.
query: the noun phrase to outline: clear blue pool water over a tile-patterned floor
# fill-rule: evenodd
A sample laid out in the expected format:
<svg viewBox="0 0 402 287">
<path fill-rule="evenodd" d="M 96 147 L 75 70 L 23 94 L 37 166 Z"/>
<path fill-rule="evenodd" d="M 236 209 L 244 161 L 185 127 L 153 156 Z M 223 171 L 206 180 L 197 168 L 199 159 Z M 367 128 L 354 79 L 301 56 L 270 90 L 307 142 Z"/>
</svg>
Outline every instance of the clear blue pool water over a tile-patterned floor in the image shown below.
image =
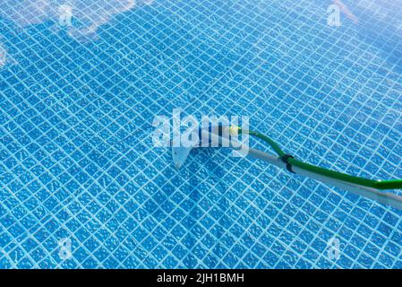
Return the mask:
<svg viewBox="0 0 402 287">
<path fill-rule="evenodd" d="M 402 268 L 402 212 L 226 150 L 175 170 L 151 137 L 173 109 L 249 116 L 402 178 L 401 1 L 344 0 L 338 27 L 323 0 L 76 0 L 73 29 L 66 1 L 4 3 L 0 267 Z"/>
</svg>

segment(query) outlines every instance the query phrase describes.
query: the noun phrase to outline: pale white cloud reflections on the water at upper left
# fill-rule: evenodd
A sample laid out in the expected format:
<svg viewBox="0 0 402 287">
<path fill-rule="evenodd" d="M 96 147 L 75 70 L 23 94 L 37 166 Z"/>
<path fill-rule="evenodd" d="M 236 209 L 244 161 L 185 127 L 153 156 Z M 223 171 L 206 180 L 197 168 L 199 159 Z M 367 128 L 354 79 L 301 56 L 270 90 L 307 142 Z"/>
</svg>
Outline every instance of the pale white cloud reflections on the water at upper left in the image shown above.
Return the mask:
<svg viewBox="0 0 402 287">
<path fill-rule="evenodd" d="M 43 22 L 54 22 L 59 29 L 81 42 L 96 39 L 99 26 L 118 13 L 135 9 L 153 0 L 3 0 L 0 17 L 19 29 Z M 56 26 L 57 25 L 57 26 Z M 0 67 L 4 66 L 6 50 L 0 43 Z"/>
</svg>

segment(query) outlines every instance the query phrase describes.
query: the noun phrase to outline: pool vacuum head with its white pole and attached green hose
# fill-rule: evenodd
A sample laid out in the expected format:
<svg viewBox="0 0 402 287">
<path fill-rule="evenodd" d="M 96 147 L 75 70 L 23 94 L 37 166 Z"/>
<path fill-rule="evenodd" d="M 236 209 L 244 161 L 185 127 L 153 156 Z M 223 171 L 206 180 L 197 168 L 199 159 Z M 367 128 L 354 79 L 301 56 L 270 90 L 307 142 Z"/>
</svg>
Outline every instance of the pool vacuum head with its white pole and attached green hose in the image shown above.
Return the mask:
<svg viewBox="0 0 402 287">
<path fill-rule="evenodd" d="M 334 170 L 323 169 L 304 161 L 299 161 L 295 159 L 294 156 L 283 152 L 278 143 L 275 143 L 268 136 L 254 131 L 243 130 L 238 126 L 209 126 L 208 128 L 200 128 L 199 138 L 201 139 L 201 142 L 189 147 L 172 147 L 172 156 L 175 167 L 179 169 L 184 165 L 184 162 L 189 156 L 192 148 L 208 146 L 208 144 L 202 143 L 203 139 L 207 139 L 210 145 L 232 147 L 234 146 L 234 140 L 231 139 L 230 136 L 242 134 L 252 135 L 261 139 L 265 143 L 268 143 L 274 152 L 277 153 L 277 155 L 272 155 L 267 152 L 247 148 L 242 143 L 236 142 L 236 149 L 248 150 L 247 156 L 269 162 L 279 168 L 287 169 L 291 173 L 313 178 L 330 186 L 339 187 L 356 195 L 370 198 L 381 204 L 389 204 L 402 210 L 402 196 L 383 191 L 389 189 L 402 189 L 402 179 L 374 180 L 359 178 Z"/>
</svg>

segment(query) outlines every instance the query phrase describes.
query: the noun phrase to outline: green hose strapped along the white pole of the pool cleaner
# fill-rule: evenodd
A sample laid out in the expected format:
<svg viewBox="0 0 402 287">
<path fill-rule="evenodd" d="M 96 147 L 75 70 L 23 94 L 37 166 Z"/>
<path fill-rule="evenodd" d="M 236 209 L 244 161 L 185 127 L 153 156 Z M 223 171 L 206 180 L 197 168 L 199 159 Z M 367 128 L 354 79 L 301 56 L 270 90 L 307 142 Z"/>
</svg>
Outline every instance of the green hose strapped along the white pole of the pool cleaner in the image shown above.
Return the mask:
<svg viewBox="0 0 402 287">
<path fill-rule="evenodd" d="M 287 157 L 287 153 L 283 152 L 278 143 L 275 143 L 272 139 L 270 139 L 266 135 L 261 135 L 258 132 L 254 131 L 248 131 L 248 130 L 242 130 L 242 128 L 237 127 L 238 133 L 239 134 L 248 134 L 255 136 L 262 141 L 269 143 L 269 145 L 272 147 L 272 149 L 277 152 L 278 157 L 281 158 L 282 160 L 284 157 Z M 373 180 L 373 179 L 367 179 L 367 178 L 358 178 L 354 176 L 350 176 L 348 174 L 338 172 L 338 171 L 333 171 L 333 170 L 327 170 L 323 169 L 317 166 L 314 166 L 309 163 L 305 163 L 303 161 L 298 161 L 295 160 L 293 157 L 287 157 L 286 158 L 287 164 L 290 164 L 291 166 L 298 167 L 302 170 L 307 170 L 310 172 L 313 172 L 315 174 L 327 177 L 327 178 L 333 178 L 333 179 L 338 179 L 342 181 L 346 181 L 348 183 L 352 183 L 355 185 L 363 186 L 363 187 L 372 187 L 376 189 L 402 189 L 402 179 L 394 179 L 394 180 Z"/>
</svg>

